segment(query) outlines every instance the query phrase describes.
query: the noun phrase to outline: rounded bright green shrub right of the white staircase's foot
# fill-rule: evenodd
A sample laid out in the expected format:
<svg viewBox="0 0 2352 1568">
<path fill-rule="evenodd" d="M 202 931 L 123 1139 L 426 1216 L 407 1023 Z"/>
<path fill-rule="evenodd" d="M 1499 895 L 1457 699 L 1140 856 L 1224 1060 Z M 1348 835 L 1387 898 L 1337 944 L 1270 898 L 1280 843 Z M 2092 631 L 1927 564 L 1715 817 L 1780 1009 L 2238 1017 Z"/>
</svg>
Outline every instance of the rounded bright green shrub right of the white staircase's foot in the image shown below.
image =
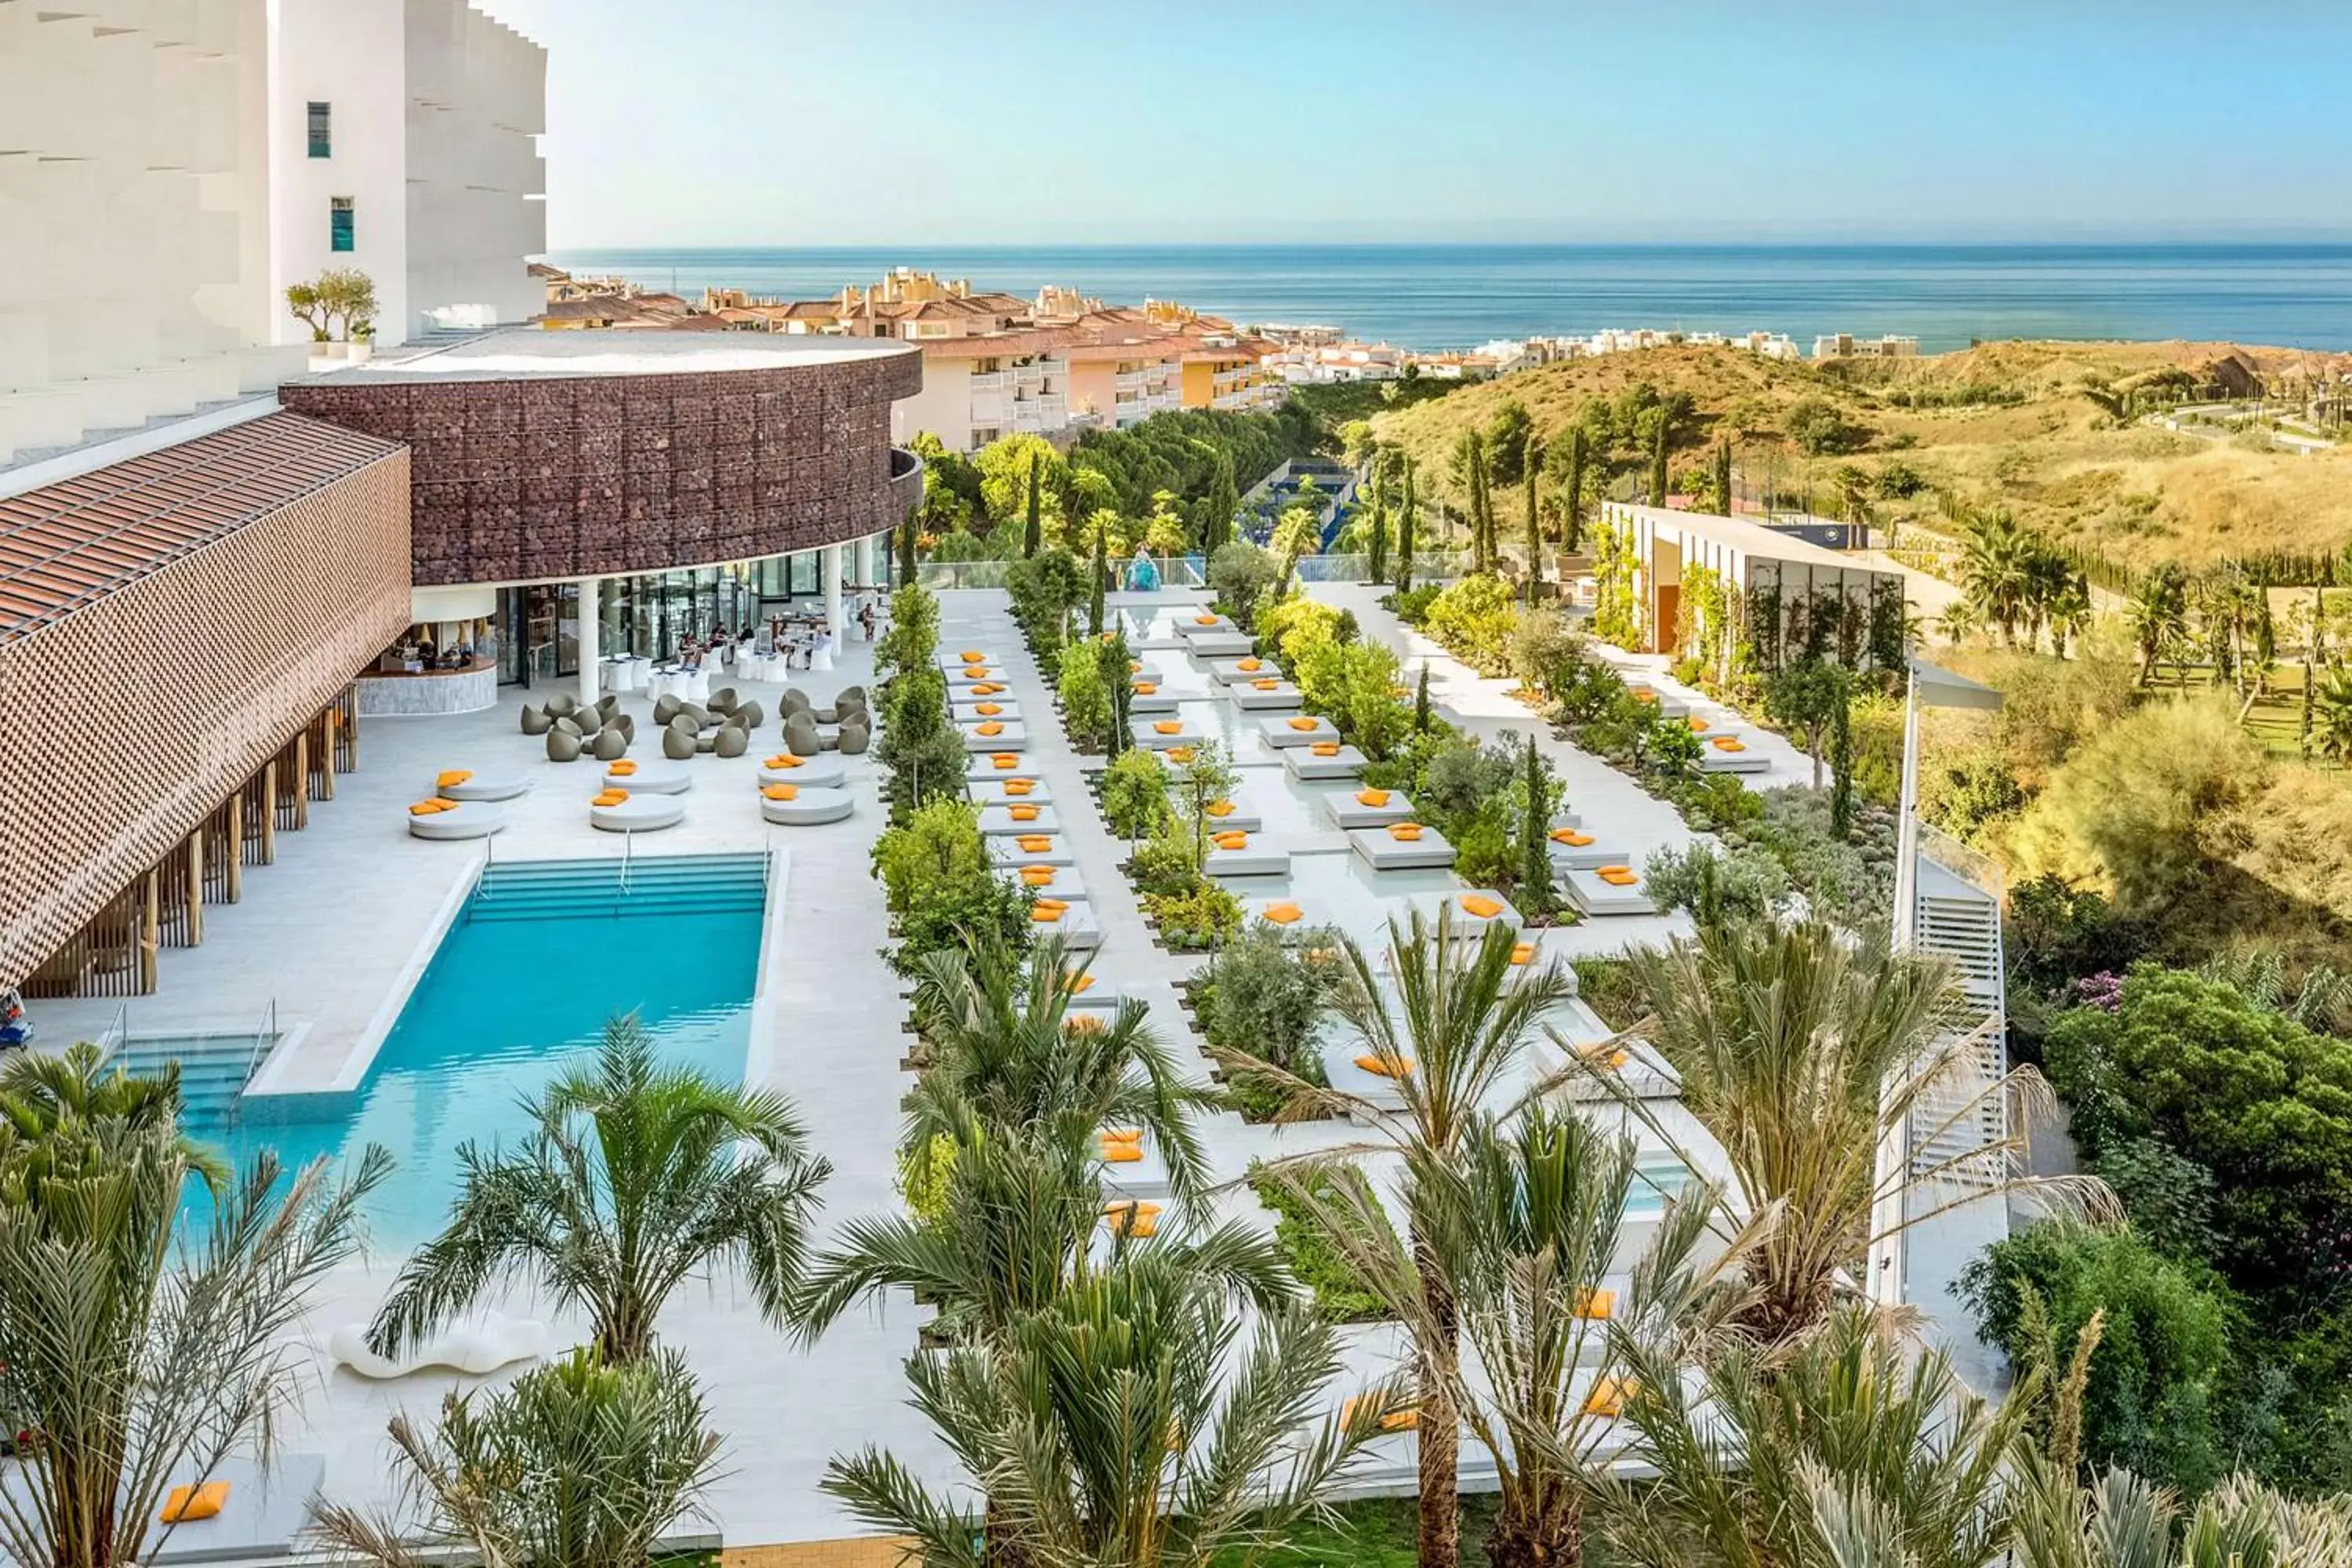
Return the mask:
<svg viewBox="0 0 2352 1568">
<path fill-rule="evenodd" d="M 1985 1342 L 2018 1366 L 2039 1359 L 2027 1300 L 2039 1300 L 2060 1359 L 2105 1312 L 2082 1403 L 2082 1458 L 2093 1469 L 2119 1465 L 2187 1495 L 2227 1469 L 2213 1420 L 2227 1302 L 2140 1237 L 2034 1225 L 1985 1248 L 1957 1291 Z"/>
</svg>

